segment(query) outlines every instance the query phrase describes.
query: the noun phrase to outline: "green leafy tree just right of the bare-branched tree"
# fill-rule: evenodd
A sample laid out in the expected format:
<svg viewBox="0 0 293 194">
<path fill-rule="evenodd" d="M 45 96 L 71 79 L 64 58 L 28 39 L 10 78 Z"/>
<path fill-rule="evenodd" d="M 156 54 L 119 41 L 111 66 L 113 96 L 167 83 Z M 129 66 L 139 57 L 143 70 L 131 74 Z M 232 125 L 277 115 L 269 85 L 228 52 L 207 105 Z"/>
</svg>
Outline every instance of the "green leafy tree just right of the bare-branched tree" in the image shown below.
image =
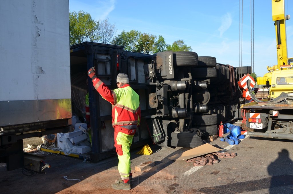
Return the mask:
<svg viewBox="0 0 293 194">
<path fill-rule="evenodd" d="M 138 39 L 140 32 L 137 30 L 130 30 L 129 32 L 125 32 L 123 30 L 120 34 L 118 34 L 113 40 L 111 44 L 124 46 L 124 50 L 136 52 Z"/>
</svg>

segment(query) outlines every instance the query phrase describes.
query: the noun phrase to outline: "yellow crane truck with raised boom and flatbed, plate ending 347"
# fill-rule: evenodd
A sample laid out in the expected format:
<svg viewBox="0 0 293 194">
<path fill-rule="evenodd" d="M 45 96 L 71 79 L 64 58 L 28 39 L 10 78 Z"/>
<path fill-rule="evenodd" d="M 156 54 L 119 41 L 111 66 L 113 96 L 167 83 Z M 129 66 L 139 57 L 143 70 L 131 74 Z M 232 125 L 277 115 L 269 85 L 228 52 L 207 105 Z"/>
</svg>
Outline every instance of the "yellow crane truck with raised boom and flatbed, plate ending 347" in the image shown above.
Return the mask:
<svg viewBox="0 0 293 194">
<path fill-rule="evenodd" d="M 285 20 L 289 16 L 285 16 L 284 0 L 272 0 L 272 18 L 276 28 L 278 64 L 268 67 L 270 73 L 257 78 L 259 85 L 271 86 L 269 98 L 260 101 L 248 90 L 254 102 L 241 105 L 245 112 L 243 121 L 246 127 L 254 129 L 247 135 L 293 139 L 293 58 L 287 57 Z"/>
</svg>

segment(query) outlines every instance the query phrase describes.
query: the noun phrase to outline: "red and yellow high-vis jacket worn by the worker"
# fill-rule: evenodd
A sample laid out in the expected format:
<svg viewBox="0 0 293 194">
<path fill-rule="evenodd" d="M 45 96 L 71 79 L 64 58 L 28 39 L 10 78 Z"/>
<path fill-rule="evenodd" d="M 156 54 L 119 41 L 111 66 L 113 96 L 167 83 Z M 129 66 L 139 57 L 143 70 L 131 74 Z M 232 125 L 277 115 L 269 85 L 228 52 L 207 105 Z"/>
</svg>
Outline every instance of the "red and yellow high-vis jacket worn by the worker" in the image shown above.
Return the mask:
<svg viewBox="0 0 293 194">
<path fill-rule="evenodd" d="M 115 90 L 110 90 L 100 79 L 93 79 L 93 86 L 100 95 L 112 104 L 112 125 L 139 125 L 139 96 L 125 84 Z"/>
</svg>

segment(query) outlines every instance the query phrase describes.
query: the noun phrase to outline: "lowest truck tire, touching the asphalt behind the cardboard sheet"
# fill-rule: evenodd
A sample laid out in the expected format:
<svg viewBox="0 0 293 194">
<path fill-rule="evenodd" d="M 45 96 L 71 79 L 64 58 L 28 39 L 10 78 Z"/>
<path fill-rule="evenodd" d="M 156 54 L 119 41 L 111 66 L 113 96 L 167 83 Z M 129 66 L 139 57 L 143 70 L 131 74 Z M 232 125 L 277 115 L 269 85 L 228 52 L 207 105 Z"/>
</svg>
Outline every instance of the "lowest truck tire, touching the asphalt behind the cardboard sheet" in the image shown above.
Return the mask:
<svg viewBox="0 0 293 194">
<path fill-rule="evenodd" d="M 169 145 L 174 147 L 193 148 L 203 144 L 201 137 L 198 135 L 198 130 L 193 130 L 192 133 L 171 132 L 169 137 Z"/>
</svg>

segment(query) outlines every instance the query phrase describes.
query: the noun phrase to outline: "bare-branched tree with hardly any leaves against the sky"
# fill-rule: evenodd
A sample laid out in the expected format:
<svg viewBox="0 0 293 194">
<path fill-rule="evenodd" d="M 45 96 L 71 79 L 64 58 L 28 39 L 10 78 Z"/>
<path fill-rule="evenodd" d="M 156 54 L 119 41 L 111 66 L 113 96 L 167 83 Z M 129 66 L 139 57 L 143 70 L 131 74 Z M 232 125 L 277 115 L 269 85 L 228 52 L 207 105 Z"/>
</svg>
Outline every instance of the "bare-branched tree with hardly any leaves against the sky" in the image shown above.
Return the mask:
<svg viewBox="0 0 293 194">
<path fill-rule="evenodd" d="M 115 24 L 110 24 L 108 18 L 103 21 L 99 21 L 98 36 L 99 42 L 108 44 L 117 32 Z"/>
</svg>

